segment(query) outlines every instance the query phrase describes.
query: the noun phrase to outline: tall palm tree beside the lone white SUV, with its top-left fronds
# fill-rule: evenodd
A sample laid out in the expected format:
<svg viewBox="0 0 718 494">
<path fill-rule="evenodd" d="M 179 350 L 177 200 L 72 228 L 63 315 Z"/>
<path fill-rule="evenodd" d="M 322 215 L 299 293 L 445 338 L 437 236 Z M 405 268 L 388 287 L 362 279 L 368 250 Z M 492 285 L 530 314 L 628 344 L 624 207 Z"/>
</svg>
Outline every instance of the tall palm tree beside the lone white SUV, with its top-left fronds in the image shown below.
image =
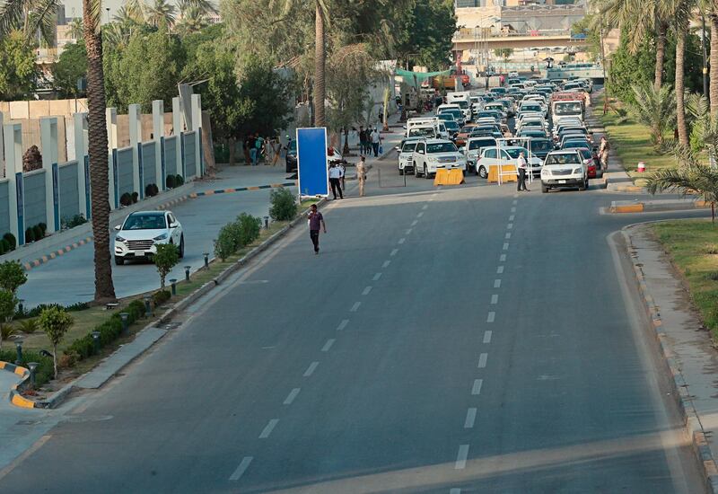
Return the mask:
<svg viewBox="0 0 718 494">
<path fill-rule="evenodd" d="M 57 0 L 12 0 L 0 8 L 0 35 L 22 29 L 27 39 L 57 20 Z M 94 235 L 95 300 L 115 301 L 109 253 L 108 141 L 105 119 L 105 87 L 102 71 L 100 0 L 83 0 L 83 38 L 87 49 L 87 103 L 89 122 L 92 234 Z M 28 13 L 35 14 L 29 15 Z M 51 38 L 50 38 L 51 39 Z"/>
</svg>

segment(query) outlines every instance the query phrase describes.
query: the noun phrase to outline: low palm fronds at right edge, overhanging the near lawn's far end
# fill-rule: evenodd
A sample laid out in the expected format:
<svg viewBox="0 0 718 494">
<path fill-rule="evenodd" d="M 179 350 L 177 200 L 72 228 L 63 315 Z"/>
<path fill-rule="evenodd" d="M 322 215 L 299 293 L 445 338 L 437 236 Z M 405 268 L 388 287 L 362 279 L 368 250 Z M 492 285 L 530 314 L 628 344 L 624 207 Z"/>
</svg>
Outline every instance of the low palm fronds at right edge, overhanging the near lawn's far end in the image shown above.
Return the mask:
<svg viewBox="0 0 718 494">
<path fill-rule="evenodd" d="M 649 175 L 646 189 L 656 192 L 677 191 L 683 195 L 698 195 L 711 203 L 711 219 L 715 223 L 715 202 L 718 200 L 718 170 L 703 163 L 691 167 L 663 168 Z"/>
</svg>

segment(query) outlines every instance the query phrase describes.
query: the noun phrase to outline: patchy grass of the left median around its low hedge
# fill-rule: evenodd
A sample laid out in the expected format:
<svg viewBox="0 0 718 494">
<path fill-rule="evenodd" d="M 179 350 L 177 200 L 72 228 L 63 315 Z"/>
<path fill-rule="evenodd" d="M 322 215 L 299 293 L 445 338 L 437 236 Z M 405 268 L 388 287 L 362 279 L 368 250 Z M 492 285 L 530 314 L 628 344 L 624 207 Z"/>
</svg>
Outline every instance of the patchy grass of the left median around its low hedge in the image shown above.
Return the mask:
<svg viewBox="0 0 718 494">
<path fill-rule="evenodd" d="M 301 206 L 297 207 L 297 212 L 303 212 L 304 209 L 311 206 L 311 204 L 314 204 L 318 202 L 318 199 L 308 199 L 302 201 Z M 237 252 L 236 254 L 232 255 L 227 260 L 219 260 L 215 259 L 210 261 L 209 267 L 207 269 L 198 269 L 195 273 L 193 273 L 189 281 L 185 281 L 184 279 L 180 280 L 177 283 L 177 296 L 171 297 L 170 300 L 165 302 L 165 304 L 160 307 L 159 309 L 154 311 L 154 319 L 159 319 L 159 315 L 164 313 L 171 304 L 176 304 L 181 299 L 185 298 L 197 288 L 204 285 L 207 281 L 215 278 L 218 276 L 224 269 L 229 268 L 232 266 L 232 264 L 236 263 L 237 260 L 240 260 L 244 255 L 246 255 L 251 249 L 256 247 L 258 244 L 264 242 L 269 238 L 271 235 L 276 234 L 279 230 L 284 228 L 286 225 L 288 225 L 288 221 L 279 221 L 279 222 L 273 222 L 269 224 L 268 229 L 262 229 L 258 240 L 251 243 L 241 251 Z M 158 275 L 159 277 L 159 275 Z M 170 287 L 168 286 L 167 289 L 169 290 Z M 115 313 L 115 312 L 122 312 L 122 309 L 127 306 L 127 304 L 130 304 L 133 300 L 140 299 L 142 300 L 144 294 L 138 295 L 138 296 L 132 296 L 128 297 L 126 299 L 120 300 L 120 305 L 118 308 L 113 309 L 112 311 L 106 310 L 103 306 L 96 306 L 91 307 L 89 309 L 86 309 L 84 311 L 77 311 L 70 313 L 74 318 L 74 324 L 70 328 L 70 330 L 67 332 L 65 339 L 60 344 L 58 350 L 58 355 L 62 355 L 62 350 L 69 347 L 74 340 L 77 340 L 78 338 L 82 338 L 84 335 L 86 335 L 89 331 L 92 331 L 92 329 L 101 324 L 102 322 L 105 322 L 109 319 L 109 317 Z M 114 352 L 119 346 L 133 340 L 135 338 L 135 334 L 137 331 L 142 330 L 147 324 L 152 322 L 153 319 L 140 319 L 135 324 L 130 326 L 127 336 L 121 337 L 115 342 L 113 342 L 111 345 L 108 345 L 104 348 L 101 348 L 101 351 L 98 355 L 88 357 L 84 360 L 79 361 L 72 369 L 66 369 L 65 372 L 63 372 L 62 375 L 62 381 L 67 381 L 71 378 L 73 378 L 75 375 L 83 374 L 84 372 L 87 372 L 88 370 L 92 369 L 93 366 L 95 366 L 102 358 L 107 357 L 110 353 Z M 17 323 L 15 323 L 16 327 L 19 327 Z M 50 344 L 48 337 L 43 333 L 41 330 L 37 330 L 32 334 L 25 334 L 20 333 L 20 337 L 22 338 L 22 347 L 28 350 L 39 350 L 39 349 L 47 349 L 48 351 L 52 351 L 52 345 Z M 4 344 L 4 348 L 14 348 L 12 340 L 7 341 Z"/>
</svg>

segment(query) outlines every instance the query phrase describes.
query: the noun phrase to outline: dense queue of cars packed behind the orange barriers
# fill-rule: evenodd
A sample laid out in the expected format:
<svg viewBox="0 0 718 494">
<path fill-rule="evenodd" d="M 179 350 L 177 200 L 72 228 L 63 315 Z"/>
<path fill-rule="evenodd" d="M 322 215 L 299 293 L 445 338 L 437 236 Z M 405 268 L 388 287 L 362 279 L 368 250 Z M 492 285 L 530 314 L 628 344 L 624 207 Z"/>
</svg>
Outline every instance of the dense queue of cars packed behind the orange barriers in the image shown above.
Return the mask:
<svg viewBox="0 0 718 494">
<path fill-rule="evenodd" d="M 409 119 L 397 146 L 399 174 L 431 178 L 458 168 L 486 179 L 492 166 L 516 165 L 523 152 L 543 192 L 585 190 L 602 168 L 584 123 L 591 81 L 515 77 L 508 83 L 485 93 L 448 93 L 433 117 Z"/>
</svg>

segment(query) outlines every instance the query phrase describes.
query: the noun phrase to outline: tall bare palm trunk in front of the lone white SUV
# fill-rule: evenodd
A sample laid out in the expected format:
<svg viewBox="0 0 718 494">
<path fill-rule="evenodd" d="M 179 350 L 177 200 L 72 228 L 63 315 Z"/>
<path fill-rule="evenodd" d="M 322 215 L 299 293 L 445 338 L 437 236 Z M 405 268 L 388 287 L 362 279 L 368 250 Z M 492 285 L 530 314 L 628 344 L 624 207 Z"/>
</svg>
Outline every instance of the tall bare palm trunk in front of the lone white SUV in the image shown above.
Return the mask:
<svg viewBox="0 0 718 494">
<path fill-rule="evenodd" d="M 83 0 L 84 42 L 87 49 L 87 107 L 94 236 L 95 300 L 114 302 L 109 254 L 108 139 L 105 119 L 105 83 L 99 20 L 92 18 L 92 0 Z"/>
</svg>

